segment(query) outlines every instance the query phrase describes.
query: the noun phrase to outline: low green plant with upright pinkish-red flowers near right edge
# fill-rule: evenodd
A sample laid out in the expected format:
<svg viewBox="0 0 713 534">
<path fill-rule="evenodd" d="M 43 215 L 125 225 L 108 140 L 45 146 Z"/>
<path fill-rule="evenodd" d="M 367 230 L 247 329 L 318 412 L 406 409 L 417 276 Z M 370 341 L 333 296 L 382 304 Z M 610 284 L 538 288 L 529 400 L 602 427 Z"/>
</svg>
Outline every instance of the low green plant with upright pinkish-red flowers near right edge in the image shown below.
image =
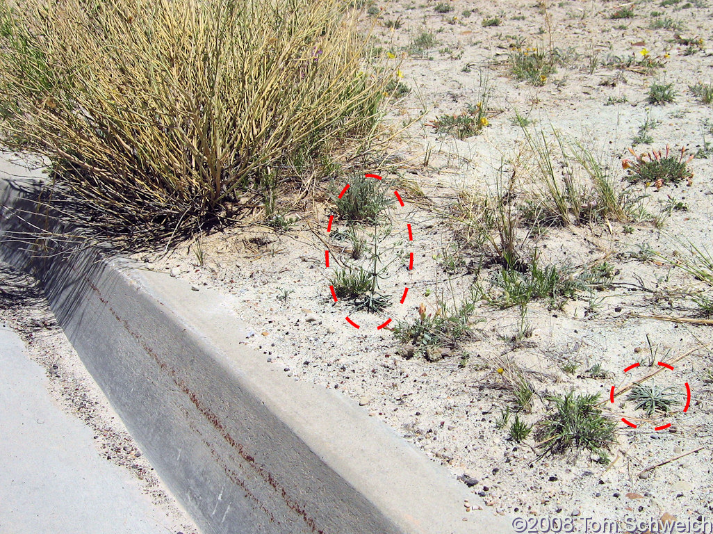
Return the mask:
<svg viewBox="0 0 713 534">
<path fill-rule="evenodd" d="M 684 160 L 685 147 L 681 147 L 678 155 L 673 155 L 668 145 L 665 154 L 661 150 L 652 150 L 637 154 L 632 148 L 629 149 L 634 156 L 633 160 L 622 160 L 622 168 L 627 170 L 627 180 L 630 183 L 644 183 L 661 188 L 663 185 L 677 185 L 685 181 L 688 185 L 692 183 L 693 173 L 687 168 L 687 163 L 693 156 Z"/>
</svg>

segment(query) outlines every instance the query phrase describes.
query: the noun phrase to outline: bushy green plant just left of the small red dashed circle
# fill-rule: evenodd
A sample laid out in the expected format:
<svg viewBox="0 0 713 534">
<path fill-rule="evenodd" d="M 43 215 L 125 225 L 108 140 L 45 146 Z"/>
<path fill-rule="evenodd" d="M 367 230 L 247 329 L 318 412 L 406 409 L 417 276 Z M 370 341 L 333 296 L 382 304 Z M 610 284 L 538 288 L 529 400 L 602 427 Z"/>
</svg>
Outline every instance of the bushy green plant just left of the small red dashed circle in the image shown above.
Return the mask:
<svg viewBox="0 0 713 534">
<path fill-rule="evenodd" d="M 540 421 L 538 446 L 542 455 L 561 454 L 572 448 L 586 449 L 608 463 L 607 450 L 615 441 L 615 421 L 602 416 L 597 408 L 599 394 L 548 397 L 553 413 Z"/>
</svg>

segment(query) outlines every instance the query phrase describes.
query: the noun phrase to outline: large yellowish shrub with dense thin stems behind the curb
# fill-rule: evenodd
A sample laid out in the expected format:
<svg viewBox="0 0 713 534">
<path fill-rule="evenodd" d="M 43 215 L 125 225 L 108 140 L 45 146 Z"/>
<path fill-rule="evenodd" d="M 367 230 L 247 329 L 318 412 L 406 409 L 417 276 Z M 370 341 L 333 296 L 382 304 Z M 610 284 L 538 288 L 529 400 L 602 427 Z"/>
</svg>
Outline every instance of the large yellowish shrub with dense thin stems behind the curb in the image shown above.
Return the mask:
<svg viewBox="0 0 713 534">
<path fill-rule="evenodd" d="M 1 144 L 128 227 L 230 215 L 374 134 L 393 73 L 366 61 L 356 16 L 338 0 L 3 0 Z"/>
</svg>

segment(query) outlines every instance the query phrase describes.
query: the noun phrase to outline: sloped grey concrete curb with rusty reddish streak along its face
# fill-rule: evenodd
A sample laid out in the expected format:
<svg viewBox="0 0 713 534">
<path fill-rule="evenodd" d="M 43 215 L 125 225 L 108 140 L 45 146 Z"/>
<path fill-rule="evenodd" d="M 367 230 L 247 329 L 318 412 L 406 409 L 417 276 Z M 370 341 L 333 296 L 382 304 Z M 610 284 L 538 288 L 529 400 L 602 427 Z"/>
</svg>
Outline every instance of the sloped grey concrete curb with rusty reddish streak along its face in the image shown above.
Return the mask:
<svg viewBox="0 0 713 534">
<path fill-rule="evenodd" d="M 271 371 L 240 345 L 247 328 L 219 294 L 57 240 L 64 225 L 29 200 L 34 183 L 7 174 L 0 257 L 41 280 L 87 369 L 205 533 L 511 532 L 488 510 L 466 513 L 477 498 L 356 403 Z"/>
</svg>

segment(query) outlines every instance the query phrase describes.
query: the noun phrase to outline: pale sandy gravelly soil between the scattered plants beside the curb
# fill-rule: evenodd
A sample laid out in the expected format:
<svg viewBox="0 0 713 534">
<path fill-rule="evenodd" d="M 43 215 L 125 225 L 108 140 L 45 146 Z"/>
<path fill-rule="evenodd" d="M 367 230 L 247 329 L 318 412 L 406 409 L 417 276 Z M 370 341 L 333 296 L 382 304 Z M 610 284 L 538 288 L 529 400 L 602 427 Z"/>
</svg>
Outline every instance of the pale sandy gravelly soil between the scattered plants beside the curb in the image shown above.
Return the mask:
<svg viewBox="0 0 713 534">
<path fill-rule="evenodd" d="M 237 314 L 253 327 L 245 344 L 295 380 L 314 381 L 359 399 L 369 414 L 468 482 L 471 502 L 514 515 L 647 520 L 668 513 L 682 520 L 711 519 L 711 329 L 651 318 L 699 317 L 687 294 L 702 284 L 665 258 L 686 254 L 688 240 L 711 243 L 713 165 L 702 157 L 706 154 L 689 163 L 694 172 L 689 187 L 639 186 L 637 191 L 647 195 L 646 209 L 658 216 L 656 224 L 651 217 L 626 223 L 600 220 L 540 229 L 538 235 L 520 228 L 525 250 L 537 250 L 545 264 L 576 273 L 607 262 L 616 273 L 606 289 L 580 292 L 559 307 L 530 302 L 528 337 L 518 339 L 523 327 L 518 307 L 501 309 L 487 299 L 476 302 L 473 336 L 460 339 L 439 361 L 407 358 L 409 348 L 393 332 L 376 329 L 386 318 L 393 319 L 391 326 L 414 322 L 421 303 L 426 313 L 433 313 L 438 298 L 458 302 L 470 284 L 479 280 L 487 287 L 498 270 L 486 262 L 479 274 L 473 271 L 488 251 L 463 246 L 448 214 L 458 192 L 493 195 L 500 168 L 505 175 L 515 173 L 523 191 L 532 187 L 532 158 L 523 130 L 514 123 L 515 111 L 533 120 L 530 128 L 535 131 L 550 135 L 555 128 L 584 143 L 617 182 L 625 178 L 621 160 L 630 157 L 627 148 L 647 118 L 658 122 L 650 130 L 654 142 L 637 145 L 637 152 L 667 144 L 673 149 L 687 146 L 689 153 L 706 148 L 702 132 L 710 128 L 705 121 L 711 108 L 694 98 L 689 85 L 713 81 L 707 48 L 713 9 L 699 2 L 668 4 L 639 2 L 627 19 L 610 18 L 630 5 L 614 2 L 483 1 L 473 9 L 471 3 L 449 1 L 445 5 L 453 10 L 446 13 L 438 13 L 433 1 L 371 4 L 378 14 L 372 9 L 364 24 L 374 23 L 381 53 L 393 54 L 394 64 L 401 61 L 402 81 L 410 89 L 392 102 L 387 117 L 396 127 L 411 125 L 397 150 L 408 161 L 384 173 L 405 201 L 404 207 L 394 204 L 389 211 L 393 234 L 383 250 L 395 261 L 380 282 L 392 302 L 384 312 L 355 311 L 349 302 L 332 299 L 329 277 L 340 261 L 348 261 L 348 254 L 335 237 L 346 228 L 339 220 L 327 233 L 334 212 L 329 203 L 293 210 L 289 217 L 299 221 L 284 234 L 267 227 L 234 228 L 203 237 L 202 252 L 195 242 L 186 242 L 168 254 L 160 251 L 140 259 L 145 268 L 185 278 L 196 290 L 211 287 L 230 294 Z M 652 11 L 660 14 L 652 16 Z M 494 17 L 500 20 L 497 26 L 483 26 Z M 387 26 L 396 20 L 399 29 Z M 684 24 L 685 29 L 655 29 L 657 20 Z M 421 31 L 431 32 L 437 43 L 409 51 Z M 556 47 L 567 61 L 543 86 L 517 81 L 508 54 L 518 39 L 521 47 Z M 655 58 L 663 66 L 648 74 L 607 66 L 614 56 L 632 55 L 637 61 Z M 488 126 L 463 140 L 437 133 L 434 120 L 463 113 L 468 104 L 481 100 L 483 78 L 488 78 Z M 673 83 L 675 101 L 647 103 L 654 82 Z M 337 188 L 345 180 L 337 180 Z M 426 199 L 414 195 L 419 188 Z M 667 195 L 687 209 L 665 213 Z M 406 237 L 407 222 L 413 242 Z M 334 258 L 330 269 L 324 267 L 326 247 Z M 458 251 L 458 265 L 446 272 L 443 257 L 450 250 Z M 413 270 L 406 265 L 408 252 L 414 252 Z M 404 285 L 409 295 L 399 304 Z M 347 316 L 360 328 L 347 324 Z M 643 363 L 625 373 L 636 361 Z M 674 362 L 674 371 L 658 361 Z M 569 371 L 563 369 L 567 364 L 572 365 Z M 595 364 L 605 374 L 589 376 L 586 371 Z M 513 406 L 506 387 L 512 369 L 520 369 L 533 384 L 533 405 L 521 417 L 535 425 L 551 413 L 551 394 L 572 389 L 600 393 L 604 414 L 617 422 L 611 462 L 597 463 L 587 451 L 540 458 L 535 431 L 523 443 L 513 443 L 508 426 L 496 426 L 501 410 Z M 692 399 L 686 413 L 678 406 L 671 414 L 647 417 L 632 403 L 622 403 L 623 395 L 614 404 L 607 402 L 612 386 L 618 391 L 657 369 L 662 369 L 657 384 L 672 386 L 681 395 L 689 384 Z M 655 431 L 665 423 L 672 426 Z"/>
</svg>

